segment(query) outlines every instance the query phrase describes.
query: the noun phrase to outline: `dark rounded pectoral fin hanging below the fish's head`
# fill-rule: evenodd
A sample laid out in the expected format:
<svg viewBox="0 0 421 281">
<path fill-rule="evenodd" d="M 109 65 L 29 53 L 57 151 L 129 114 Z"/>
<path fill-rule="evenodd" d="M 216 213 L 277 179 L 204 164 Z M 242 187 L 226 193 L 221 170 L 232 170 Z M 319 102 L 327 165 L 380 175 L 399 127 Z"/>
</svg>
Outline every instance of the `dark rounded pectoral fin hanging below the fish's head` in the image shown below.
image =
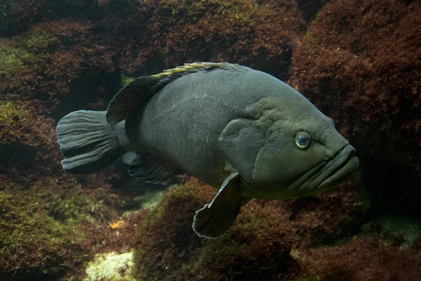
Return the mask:
<svg viewBox="0 0 421 281">
<path fill-rule="evenodd" d="M 194 232 L 201 237 L 220 238 L 235 222 L 242 204 L 240 175 L 236 172 L 225 179 L 210 204 L 196 211 L 193 222 Z"/>
</svg>

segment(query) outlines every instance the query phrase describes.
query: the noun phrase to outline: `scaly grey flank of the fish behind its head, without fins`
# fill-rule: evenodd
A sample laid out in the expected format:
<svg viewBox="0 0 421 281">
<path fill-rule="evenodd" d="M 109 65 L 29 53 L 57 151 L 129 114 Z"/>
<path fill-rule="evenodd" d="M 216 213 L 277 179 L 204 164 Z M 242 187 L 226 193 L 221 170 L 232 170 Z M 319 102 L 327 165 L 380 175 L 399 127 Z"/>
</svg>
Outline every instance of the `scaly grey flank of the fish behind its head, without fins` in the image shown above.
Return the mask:
<svg viewBox="0 0 421 281">
<path fill-rule="evenodd" d="M 134 149 L 152 152 L 219 187 L 230 174 L 225 170 L 220 135 L 230 121 L 246 117 L 248 105 L 264 97 L 250 90 L 256 82 L 253 76 L 274 78 L 260 74 L 213 70 L 171 82 L 152 97 L 140 122 L 136 121 L 139 126 Z"/>
</svg>

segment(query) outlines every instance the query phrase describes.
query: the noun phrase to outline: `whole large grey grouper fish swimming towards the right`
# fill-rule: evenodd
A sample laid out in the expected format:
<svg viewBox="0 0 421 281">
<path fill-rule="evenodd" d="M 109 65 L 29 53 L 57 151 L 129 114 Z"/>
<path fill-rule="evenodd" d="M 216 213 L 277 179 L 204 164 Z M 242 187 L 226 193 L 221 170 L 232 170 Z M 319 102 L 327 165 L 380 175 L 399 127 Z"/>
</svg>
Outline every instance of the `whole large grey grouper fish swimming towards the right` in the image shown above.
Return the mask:
<svg viewBox="0 0 421 281">
<path fill-rule="evenodd" d="M 187 63 L 131 81 L 107 111 L 79 110 L 57 125 L 70 174 L 137 152 L 131 176 L 161 183 L 188 172 L 219 191 L 193 229 L 217 239 L 253 198 L 325 192 L 359 167 L 355 149 L 298 91 L 231 63 Z"/>
</svg>

